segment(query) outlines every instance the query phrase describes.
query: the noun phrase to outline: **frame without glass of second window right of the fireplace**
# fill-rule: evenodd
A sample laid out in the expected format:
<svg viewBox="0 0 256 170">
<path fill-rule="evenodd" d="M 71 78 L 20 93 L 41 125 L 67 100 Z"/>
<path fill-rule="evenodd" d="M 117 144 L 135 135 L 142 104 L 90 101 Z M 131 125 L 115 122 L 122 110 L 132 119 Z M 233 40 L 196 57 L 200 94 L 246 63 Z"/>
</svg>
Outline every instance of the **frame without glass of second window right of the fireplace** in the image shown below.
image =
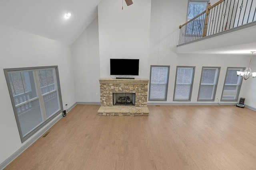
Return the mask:
<svg viewBox="0 0 256 170">
<path fill-rule="evenodd" d="M 193 68 L 193 72 L 191 73 L 191 80 L 190 80 L 190 94 L 188 99 L 176 99 L 175 98 L 175 91 L 176 91 L 176 82 L 177 82 L 177 73 L 178 73 L 178 68 Z M 176 67 L 176 76 L 175 76 L 175 85 L 174 85 L 174 94 L 173 94 L 173 101 L 179 101 L 179 102 L 190 102 L 191 101 L 191 96 L 192 96 L 192 88 L 193 88 L 193 82 L 194 82 L 194 75 L 195 75 L 195 70 L 196 66 L 177 66 Z"/>
</svg>

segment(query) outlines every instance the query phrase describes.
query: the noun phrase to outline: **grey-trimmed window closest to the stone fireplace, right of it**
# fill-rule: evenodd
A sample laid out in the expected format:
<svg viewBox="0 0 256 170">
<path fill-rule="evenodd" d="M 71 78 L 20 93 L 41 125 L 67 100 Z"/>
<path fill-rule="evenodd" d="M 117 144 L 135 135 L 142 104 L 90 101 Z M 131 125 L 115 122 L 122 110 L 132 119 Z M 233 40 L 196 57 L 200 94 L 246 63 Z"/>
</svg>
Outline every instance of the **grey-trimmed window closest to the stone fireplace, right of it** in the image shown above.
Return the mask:
<svg viewBox="0 0 256 170">
<path fill-rule="evenodd" d="M 166 101 L 170 66 L 150 66 L 149 101 Z"/>
</svg>

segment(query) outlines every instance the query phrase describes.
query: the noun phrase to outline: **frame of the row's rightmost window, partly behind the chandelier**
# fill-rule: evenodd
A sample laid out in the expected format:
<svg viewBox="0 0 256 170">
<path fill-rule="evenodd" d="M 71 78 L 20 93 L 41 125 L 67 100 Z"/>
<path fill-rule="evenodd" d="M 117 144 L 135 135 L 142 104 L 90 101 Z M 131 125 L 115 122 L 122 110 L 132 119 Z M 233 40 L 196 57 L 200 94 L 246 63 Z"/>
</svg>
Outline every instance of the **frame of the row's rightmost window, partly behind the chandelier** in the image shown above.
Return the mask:
<svg viewBox="0 0 256 170">
<path fill-rule="evenodd" d="M 238 82 L 237 84 L 226 84 L 226 78 L 227 78 L 227 73 L 228 73 L 228 70 L 231 69 L 231 70 L 237 70 L 237 69 L 240 69 L 240 71 L 244 71 L 244 67 L 228 67 L 227 68 L 227 71 L 226 71 L 226 76 L 225 76 L 225 80 L 224 80 L 224 85 L 223 85 L 223 89 L 222 89 L 222 94 L 221 94 L 221 98 L 220 98 L 220 101 L 221 102 L 237 102 L 238 101 L 238 96 L 239 96 L 239 93 L 240 93 L 240 89 L 241 89 L 241 86 L 242 86 L 242 82 L 243 82 L 243 78 L 242 77 L 239 77 L 240 78 L 240 82 Z M 236 94 L 236 98 L 235 99 L 223 99 L 223 93 L 224 93 L 224 87 L 227 86 L 227 85 L 231 85 L 231 86 L 234 86 L 236 85 L 236 90 L 227 90 L 227 91 L 230 91 L 230 94 L 231 93 L 234 93 Z M 234 92 L 232 92 L 234 91 Z"/>
</svg>

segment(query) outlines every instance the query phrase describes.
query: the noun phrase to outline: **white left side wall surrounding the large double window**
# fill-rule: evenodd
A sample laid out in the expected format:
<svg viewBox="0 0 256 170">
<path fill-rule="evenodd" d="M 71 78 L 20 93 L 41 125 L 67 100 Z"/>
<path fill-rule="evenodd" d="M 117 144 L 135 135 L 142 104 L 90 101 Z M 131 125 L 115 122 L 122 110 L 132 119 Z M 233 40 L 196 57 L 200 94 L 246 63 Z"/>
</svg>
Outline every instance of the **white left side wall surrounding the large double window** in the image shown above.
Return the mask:
<svg viewBox="0 0 256 170">
<path fill-rule="evenodd" d="M 4 68 L 58 65 L 63 108 L 75 100 L 70 45 L 0 25 L 0 164 L 30 139 L 21 143 Z"/>
</svg>

